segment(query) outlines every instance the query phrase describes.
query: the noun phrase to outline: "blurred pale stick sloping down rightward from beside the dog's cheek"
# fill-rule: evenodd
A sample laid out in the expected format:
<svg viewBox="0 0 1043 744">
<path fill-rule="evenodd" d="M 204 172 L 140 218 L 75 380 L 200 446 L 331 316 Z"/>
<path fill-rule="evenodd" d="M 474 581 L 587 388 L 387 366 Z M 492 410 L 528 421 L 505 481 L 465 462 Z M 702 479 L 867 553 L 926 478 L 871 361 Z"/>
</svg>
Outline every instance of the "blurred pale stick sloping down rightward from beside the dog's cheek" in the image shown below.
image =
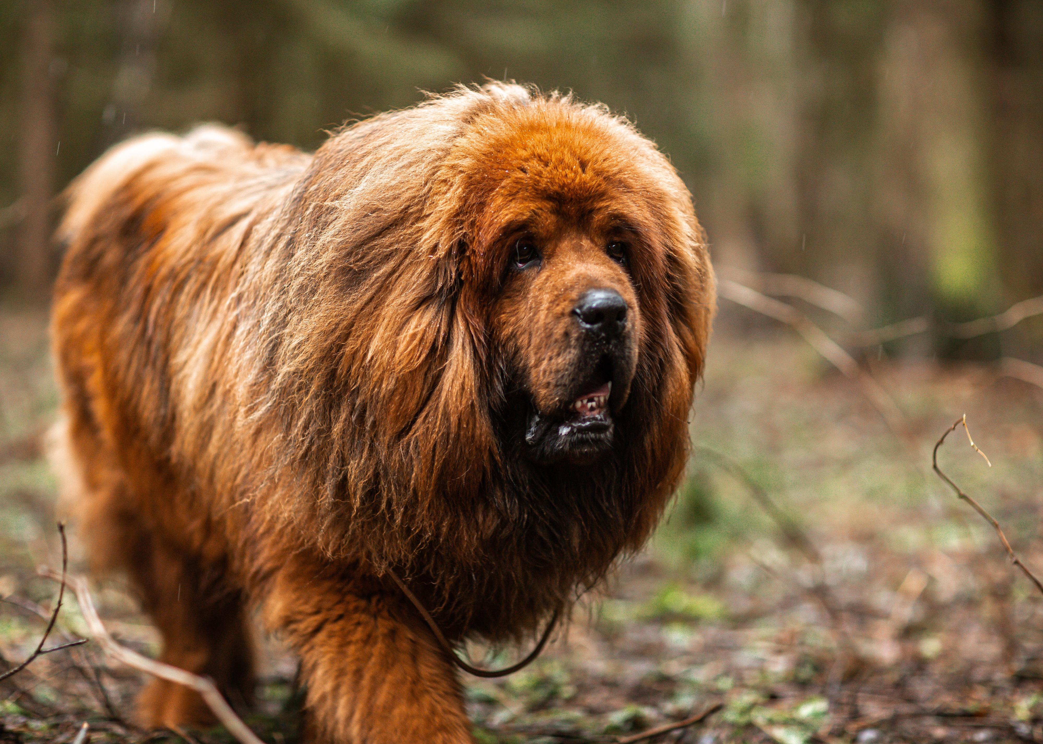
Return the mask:
<svg viewBox="0 0 1043 744">
<path fill-rule="evenodd" d="M 791 326 L 830 364 L 840 369 L 845 377 L 858 384 L 866 398 L 883 416 L 883 421 L 896 435 L 905 440 L 912 439 L 908 428 L 905 426 L 905 418 L 891 395 L 880 387 L 880 384 L 869 373 L 858 366 L 858 362 L 850 354 L 796 308 L 727 279 L 718 283 L 718 292 L 722 297 Z"/>
</svg>

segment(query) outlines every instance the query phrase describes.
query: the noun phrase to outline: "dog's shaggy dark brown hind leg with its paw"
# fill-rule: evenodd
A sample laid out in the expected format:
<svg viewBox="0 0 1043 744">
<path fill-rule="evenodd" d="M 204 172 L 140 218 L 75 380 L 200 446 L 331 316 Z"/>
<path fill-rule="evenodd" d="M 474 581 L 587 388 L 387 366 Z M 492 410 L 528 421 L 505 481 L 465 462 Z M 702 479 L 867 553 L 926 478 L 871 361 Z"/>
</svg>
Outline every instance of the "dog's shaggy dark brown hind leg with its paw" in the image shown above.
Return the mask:
<svg viewBox="0 0 1043 744">
<path fill-rule="evenodd" d="M 160 478 L 132 480 L 97 427 L 70 409 L 72 415 L 52 432 L 51 458 L 64 510 L 75 519 L 93 572 L 130 579 L 162 637 L 160 661 L 212 677 L 234 705 L 249 702 L 253 654 L 246 609 L 241 594 L 226 584 L 225 561 L 203 560 L 201 551 L 193 551 L 191 530 L 175 529 L 177 542 L 164 536 L 176 494 Z M 214 722 L 195 692 L 163 680 L 145 688 L 137 718 L 147 728 Z"/>
</svg>

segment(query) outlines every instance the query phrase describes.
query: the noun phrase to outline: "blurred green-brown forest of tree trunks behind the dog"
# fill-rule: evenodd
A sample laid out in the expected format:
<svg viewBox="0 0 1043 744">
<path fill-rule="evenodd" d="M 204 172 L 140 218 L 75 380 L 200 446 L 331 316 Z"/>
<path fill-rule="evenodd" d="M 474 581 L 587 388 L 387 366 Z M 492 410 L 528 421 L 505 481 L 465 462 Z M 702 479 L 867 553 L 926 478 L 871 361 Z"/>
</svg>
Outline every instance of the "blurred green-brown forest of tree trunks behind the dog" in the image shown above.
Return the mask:
<svg viewBox="0 0 1043 744">
<path fill-rule="evenodd" d="M 314 148 L 485 76 L 631 117 L 722 267 L 816 279 L 871 322 L 1043 293 L 1039 0 L 6 0 L 0 286 L 46 302 L 52 195 L 131 133 Z M 1041 332 L 1004 343 L 1030 357 Z M 945 344 L 904 351 L 1000 354 Z"/>
</svg>

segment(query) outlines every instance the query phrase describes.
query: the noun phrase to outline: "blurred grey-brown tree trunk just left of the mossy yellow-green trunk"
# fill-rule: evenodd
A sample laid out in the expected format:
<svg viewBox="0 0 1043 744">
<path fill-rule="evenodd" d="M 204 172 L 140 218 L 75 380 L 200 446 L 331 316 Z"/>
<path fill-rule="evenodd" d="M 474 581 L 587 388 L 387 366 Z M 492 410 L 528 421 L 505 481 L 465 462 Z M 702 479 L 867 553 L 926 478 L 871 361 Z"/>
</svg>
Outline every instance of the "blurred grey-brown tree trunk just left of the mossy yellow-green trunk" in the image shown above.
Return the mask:
<svg viewBox="0 0 1043 744">
<path fill-rule="evenodd" d="M 795 67 L 800 235 L 780 267 L 875 310 L 879 236 L 871 215 L 877 195 L 867 174 L 876 155 L 874 82 L 886 6 L 799 0 L 795 7 L 801 40 Z"/>
</svg>

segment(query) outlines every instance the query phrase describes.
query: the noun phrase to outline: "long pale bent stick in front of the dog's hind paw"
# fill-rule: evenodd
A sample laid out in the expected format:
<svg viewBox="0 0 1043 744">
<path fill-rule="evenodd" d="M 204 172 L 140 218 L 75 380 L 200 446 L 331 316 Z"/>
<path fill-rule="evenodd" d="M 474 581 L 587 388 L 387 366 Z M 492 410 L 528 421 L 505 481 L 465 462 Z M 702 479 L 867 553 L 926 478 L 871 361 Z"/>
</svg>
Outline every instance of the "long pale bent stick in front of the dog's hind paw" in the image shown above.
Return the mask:
<svg viewBox="0 0 1043 744">
<path fill-rule="evenodd" d="M 40 569 L 40 574 L 54 580 L 58 580 L 59 578 L 58 574 L 47 568 Z M 105 653 L 128 667 L 195 690 L 237 741 L 241 742 L 241 744 L 263 744 L 261 739 L 232 710 L 232 706 L 221 696 L 213 680 L 184 669 L 172 667 L 169 664 L 156 662 L 118 644 L 108 634 L 104 624 L 101 622 L 101 618 L 98 617 L 98 610 L 94 607 L 94 600 L 91 598 L 91 591 L 88 587 L 87 579 L 81 576 L 70 576 L 68 579 L 65 579 L 65 574 L 62 575 L 62 578 L 76 595 L 76 600 L 79 602 L 79 609 L 83 616 L 83 620 L 87 622 L 88 630 Z"/>
</svg>

